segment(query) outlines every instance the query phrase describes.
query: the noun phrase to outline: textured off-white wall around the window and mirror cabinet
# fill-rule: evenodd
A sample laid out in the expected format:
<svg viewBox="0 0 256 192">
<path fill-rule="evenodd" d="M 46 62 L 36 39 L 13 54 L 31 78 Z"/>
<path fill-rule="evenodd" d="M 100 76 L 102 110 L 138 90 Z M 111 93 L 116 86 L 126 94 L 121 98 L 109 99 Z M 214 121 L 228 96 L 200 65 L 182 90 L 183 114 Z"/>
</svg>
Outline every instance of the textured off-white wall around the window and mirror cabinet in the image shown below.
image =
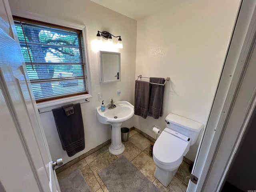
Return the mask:
<svg viewBox="0 0 256 192">
<path fill-rule="evenodd" d="M 111 138 L 110 125 L 101 124 L 96 118 L 96 108 L 101 104 L 98 101 L 97 93 L 101 92 L 103 94 L 103 100 L 106 100 L 106 103 L 110 102 L 111 98 L 114 101 L 126 100 L 131 103 L 134 102 L 137 22 L 89 0 L 9 0 L 9 3 L 12 10 L 25 10 L 49 18 L 86 26 L 93 97 L 90 98 L 89 103 L 81 104 L 84 120 L 85 149 L 72 157 L 68 157 L 66 152 L 62 150 L 52 112 L 40 114 L 52 159 L 63 158 L 63 162 L 66 163 Z M 96 39 L 98 30 L 106 30 L 116 36 L 122 36 L 124 48 L 118 50 L 121 52 L 121 82 L 100 84 L 98 54 L 93 51 L 91 44 Z M 120 96 L 117 96 L 116 93 L 118 89 L 121 90 Z M 55 107 L 58 106 L 53 108 Z M 123 126 L 127 127 L 132 127 L 133 125 L 132 120 L 128 120 L 123 124 Z"/>
</svg>

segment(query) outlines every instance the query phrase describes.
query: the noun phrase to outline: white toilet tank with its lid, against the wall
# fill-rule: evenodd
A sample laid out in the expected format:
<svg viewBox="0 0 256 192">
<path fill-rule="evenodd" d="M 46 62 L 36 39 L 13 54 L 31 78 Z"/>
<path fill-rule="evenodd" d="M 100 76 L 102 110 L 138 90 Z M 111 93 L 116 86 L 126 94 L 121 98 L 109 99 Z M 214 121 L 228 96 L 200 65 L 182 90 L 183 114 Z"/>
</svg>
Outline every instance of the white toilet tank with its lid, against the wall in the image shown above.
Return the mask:
<svg viewBox="0 0 256 192">
<path fill-rule="evenodd" d="M 200 131 L 204 127 L 201 123 L 172 113 L 168 114 L 165 120 L 167 128 L 181 133 L 191 139 L 190 146 L 196 142 Z"/>
</svg>

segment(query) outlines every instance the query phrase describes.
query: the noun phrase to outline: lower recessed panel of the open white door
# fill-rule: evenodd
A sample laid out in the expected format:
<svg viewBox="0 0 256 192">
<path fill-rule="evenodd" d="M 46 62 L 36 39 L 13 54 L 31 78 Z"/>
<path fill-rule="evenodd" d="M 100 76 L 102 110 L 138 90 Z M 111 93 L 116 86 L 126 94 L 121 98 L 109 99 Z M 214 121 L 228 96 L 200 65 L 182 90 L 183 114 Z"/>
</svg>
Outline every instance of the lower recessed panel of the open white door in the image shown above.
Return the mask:
<svg viewBox="0 0 256 192">
<path fill-rule="evenodd" d="M 1 85 L 0 89 L 0 153 L 2 154 L 0 181 L 7 192 L 20 191 L 20 186 L 24 183 L 29 183 L 23 186 L 24 191 L 38 191 L 34 174 L 16 131 L 16 124 L 4 99 Z M 16 181 L 15 184 L 13 181 Z"/>
</svg>

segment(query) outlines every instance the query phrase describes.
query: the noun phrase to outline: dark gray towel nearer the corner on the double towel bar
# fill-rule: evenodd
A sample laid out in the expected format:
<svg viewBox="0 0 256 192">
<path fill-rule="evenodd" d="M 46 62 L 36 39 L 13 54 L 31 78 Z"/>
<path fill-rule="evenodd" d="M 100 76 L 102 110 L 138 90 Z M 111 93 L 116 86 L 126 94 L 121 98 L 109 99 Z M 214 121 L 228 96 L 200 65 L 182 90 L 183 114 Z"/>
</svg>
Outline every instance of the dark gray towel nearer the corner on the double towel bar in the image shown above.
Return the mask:
<svg viewBox="0 0 256 192">
<path fill-rule="evenodd" d="M 135 81 L 134 114 L 142 116 L 144 119 L 148 116 L 149 93 L 149 82 L 139 80 Z"/>
</svg>

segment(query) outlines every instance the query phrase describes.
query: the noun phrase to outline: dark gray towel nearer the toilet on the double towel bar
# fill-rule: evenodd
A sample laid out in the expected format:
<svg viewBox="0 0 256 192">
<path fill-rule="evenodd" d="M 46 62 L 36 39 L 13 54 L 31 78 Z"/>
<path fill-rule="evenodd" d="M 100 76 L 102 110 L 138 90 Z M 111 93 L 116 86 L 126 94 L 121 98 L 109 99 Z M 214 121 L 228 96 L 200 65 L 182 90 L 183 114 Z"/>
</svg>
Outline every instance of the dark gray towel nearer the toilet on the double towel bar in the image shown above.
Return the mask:
<svg viewBox="0 0 256 192">
<path fill-rule="evenodd" d="M 151 83 L 164 84 L 164 78 L 150 77 Z M 164 86 L 151 84 L 148 116 L 158 119 L 163 114 Z"/>
</svg>

